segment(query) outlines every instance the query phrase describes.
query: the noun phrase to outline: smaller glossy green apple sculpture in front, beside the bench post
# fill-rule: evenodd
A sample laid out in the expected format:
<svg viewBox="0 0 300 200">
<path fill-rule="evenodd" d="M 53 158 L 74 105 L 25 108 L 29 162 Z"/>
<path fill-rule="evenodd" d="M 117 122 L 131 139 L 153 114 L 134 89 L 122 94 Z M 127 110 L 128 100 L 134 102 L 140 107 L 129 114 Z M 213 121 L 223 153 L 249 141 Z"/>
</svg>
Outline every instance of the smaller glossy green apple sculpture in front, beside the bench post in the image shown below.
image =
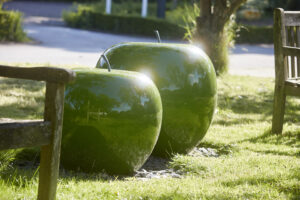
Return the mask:
<svg viewBox="0 0 300 200">
<path fill-rule="evenodd" d="M 65 91 L 61 163 L 86 172 L 129 174 L 157 141 L 162 105 L 146 76 L 121 70 L 77 69 Z"/>
</svg>

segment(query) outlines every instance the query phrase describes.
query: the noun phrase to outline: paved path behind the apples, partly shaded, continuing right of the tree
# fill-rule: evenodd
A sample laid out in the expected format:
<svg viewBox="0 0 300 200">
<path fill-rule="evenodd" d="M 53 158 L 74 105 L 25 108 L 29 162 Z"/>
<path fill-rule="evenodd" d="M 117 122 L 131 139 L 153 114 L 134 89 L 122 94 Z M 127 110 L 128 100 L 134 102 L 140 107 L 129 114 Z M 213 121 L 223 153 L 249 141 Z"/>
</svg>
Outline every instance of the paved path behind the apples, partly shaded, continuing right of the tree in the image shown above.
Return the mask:
<svg viewBox="0 0 300 200">
<path fill-rule="evenodd" d="M 7 9 L 25 13 L 24 28 L 30 44 L 0 44 L 0 62 L 51 63 L 95 66 L 101 52 L 119 42 L 155 42 L 132 37 L 64 27 L 61 12 L 68 3 L 8 2 Z M 176 41 L 167 41 L 176 42 Z M 274 77 L 272 45 L 236 45 L 230 53 L 230 74 Z"/>
</svg>

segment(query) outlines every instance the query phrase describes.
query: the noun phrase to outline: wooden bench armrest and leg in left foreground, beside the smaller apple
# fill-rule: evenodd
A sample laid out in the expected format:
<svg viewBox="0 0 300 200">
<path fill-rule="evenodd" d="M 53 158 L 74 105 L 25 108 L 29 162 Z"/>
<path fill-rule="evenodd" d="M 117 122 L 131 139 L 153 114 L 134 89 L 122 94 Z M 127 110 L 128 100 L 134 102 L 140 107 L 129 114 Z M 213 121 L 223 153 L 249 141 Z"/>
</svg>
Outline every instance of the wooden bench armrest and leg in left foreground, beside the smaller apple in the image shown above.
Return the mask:
<svg viewBox="0 0 300 200">
<path fill-rule="evenodd" d="M 0 150 L 41 146 L 38 199 L 55 199 L 59 173 L 65 84 L 75 79 L 71 70 L 0 65 L 0 76 L 46 82 L 44 120 L 0 124 Z"/>
</svg>

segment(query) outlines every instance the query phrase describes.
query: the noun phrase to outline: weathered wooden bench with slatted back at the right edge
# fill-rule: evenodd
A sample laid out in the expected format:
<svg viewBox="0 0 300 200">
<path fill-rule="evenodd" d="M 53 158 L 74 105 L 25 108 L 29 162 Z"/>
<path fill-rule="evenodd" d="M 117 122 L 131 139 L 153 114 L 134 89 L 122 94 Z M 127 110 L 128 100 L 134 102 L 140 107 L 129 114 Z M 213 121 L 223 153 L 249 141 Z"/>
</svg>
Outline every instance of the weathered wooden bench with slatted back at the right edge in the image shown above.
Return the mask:
<svg viewBox="0 0 300 200">
<path fill-rule="evenodd" d="M 287 95 L 300 96 L 300 11 L 274 11 L 275 92 L 272 133 L 281 134 Z"/>
</svg>

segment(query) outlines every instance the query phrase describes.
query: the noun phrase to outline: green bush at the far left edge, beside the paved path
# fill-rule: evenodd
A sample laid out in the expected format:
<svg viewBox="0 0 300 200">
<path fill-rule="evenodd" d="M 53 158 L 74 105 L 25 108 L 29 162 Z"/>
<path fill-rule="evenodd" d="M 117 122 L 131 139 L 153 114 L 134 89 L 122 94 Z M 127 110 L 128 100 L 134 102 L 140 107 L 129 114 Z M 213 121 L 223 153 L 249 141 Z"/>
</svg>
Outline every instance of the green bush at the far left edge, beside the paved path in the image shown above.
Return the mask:
<svg viewBox="0 0 300 200">
<path fill-rule="evenodd" d="M 0 9 L 0 41 L 23 42 L 27 39 L 22 29 L 21 13 Z"/>
</svg>

